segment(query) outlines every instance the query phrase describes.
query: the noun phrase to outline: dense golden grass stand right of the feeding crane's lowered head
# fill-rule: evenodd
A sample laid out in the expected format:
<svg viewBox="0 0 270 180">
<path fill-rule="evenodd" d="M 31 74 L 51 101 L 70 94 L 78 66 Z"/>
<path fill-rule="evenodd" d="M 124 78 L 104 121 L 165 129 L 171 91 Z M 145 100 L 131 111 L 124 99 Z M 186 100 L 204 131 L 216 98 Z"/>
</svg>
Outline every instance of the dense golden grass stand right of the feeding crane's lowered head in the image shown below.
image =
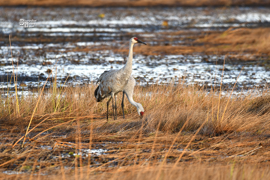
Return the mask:
<svg viewBox="0 0 270 180">
<path fill-rule="evenodd" d="M 153 90 L 149 88 L 149 91 Z M 169 132 L 195 131 L 204 121 L 207 128 L 204 127 L 201 132 L 212 135 L 269 127 L 266 120 L 269 112 L 265 111 L 265 116 L 258 116 L 248 110 L 250 101 L 254 99 L 251 96 L 230 99 L 224 96 L 219 102 L 217 92 L 208 93 L 203 89 L 183 88 L 181 85 L 176 88 L 167 86 L 166 89 L 157 86 L 153 92 L 141 100 L 147 110 L 148 131 L 155 131 L 157 127 Z"/>
</svg>

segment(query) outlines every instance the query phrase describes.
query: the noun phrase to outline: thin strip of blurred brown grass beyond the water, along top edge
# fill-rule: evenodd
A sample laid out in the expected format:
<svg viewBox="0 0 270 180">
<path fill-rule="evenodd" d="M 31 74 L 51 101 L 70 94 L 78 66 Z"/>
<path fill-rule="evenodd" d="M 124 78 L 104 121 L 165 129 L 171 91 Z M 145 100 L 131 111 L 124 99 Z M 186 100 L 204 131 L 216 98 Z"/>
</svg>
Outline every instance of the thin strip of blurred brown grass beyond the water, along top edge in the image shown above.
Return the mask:
<svg viewBox="0 0 270 180">
<path fill-rule="evenodd" d="M 0 6 L 88 6 L 88 7 L 100 7 L 100 6 L 242 6 L 242 5 L 269 5 L 268 1 L 264 0 L 10 0 L 0 1 Z"/>
</svg>

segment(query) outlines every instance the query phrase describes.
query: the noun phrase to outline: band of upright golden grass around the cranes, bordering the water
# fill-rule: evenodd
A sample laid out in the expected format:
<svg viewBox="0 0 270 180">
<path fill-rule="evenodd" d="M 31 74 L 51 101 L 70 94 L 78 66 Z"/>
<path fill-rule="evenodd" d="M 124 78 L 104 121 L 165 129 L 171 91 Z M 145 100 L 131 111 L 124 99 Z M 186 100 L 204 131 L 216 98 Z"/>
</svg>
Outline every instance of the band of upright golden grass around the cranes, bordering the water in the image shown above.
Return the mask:
<svg viewBox="0 0 270 180">
<path fill-rule="evenodd" d="M 106 102 L 95 102 L 94 89 L 94 85 L 63 89 L 52 87 L 42 93 L 33 121 L 39 123 L 46 114 L 50 116 L 46 121 L 54 122 L 65 122 L 75 118 L 105 118 Z M 158 130 L 170 133 L 179 130 L 195 131 L 204 121 L 207 127 L 203 128 L 204 134 L 256 131 L 262 127 L 269 127 L 266 121 L 270 113 L 269 95 L 265 94 L 260 98 L 243 96 L 230 99 L 221 96 L 219 99 L 218 94 L 219 92 L 213 90 L 208 92 L 195 86 L 183 86 L 182 82 L 179 82 L 177 85 L 135 87 L 133 98 L 134 101 L 140 102 L 146 111 L 143 126 L 145 132 L 154 132 L 157 127 Z M 15 124 L 18 118 L 28 121 L 38 101 L 38 95 L 35 93 L 22 96 L 19 99 L 19 115 L 14 96 L 1 98 L 1 119 L 10 119 L 10 125 Z M 121 98 L 118 98 L 117 103 L 121 104 L 120 101 Z M 105 126 L 109 130 L 108 133 L 140 127 L 141 122 L 136 120 L 139 118 L 136 108 L 126 99 L 124 104 L 127 120 L 131 122 L 109 123 L 109 126 Z M 121 120 L 121 108 L 118 108 L 117 114 Z"/>
</svg>

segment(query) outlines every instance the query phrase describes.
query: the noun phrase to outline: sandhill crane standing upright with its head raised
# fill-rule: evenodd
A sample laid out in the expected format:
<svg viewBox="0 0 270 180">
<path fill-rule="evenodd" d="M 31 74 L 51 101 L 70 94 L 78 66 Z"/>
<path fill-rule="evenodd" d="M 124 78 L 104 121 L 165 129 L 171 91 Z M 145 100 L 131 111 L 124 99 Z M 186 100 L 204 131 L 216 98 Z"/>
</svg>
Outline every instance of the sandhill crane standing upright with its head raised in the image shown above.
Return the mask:
<svg viewBox="0 0 270 180">
<path fill-rule="evenodd" d="M 109 70 L 104 71 L 99 79 L 97 80 L 97 83 L 100 82 L 99 86 L 95 90 L 95 98 L 97 102 L 103 101 L 106 97 L 111 97 L 107 101 L 107 120 L 108 120 L 108 110 L 109 110 L 109 103 L 112 100 L 113 104 L 113 117 L 114 120 L 116 120 L 116 97 L 115 97 L 115 105 L 113 103 L 113 97 L 116 96 L 119 92 L 122 92 L 124 90 L 124 87 L 127 85 L 131 72 L 132 72 L 132 59 L 133 59 L 133 45 L 136 43 L 141 43 L 146 45 L 146 43 L 141 42 L 138 38 L 133 37 L 129 41 L 129 58 L 127 59 L 126 64 L 121 69 L 115 70 Z M 115 112 L 115 114 L 114 114 Z"/>
</svg>

